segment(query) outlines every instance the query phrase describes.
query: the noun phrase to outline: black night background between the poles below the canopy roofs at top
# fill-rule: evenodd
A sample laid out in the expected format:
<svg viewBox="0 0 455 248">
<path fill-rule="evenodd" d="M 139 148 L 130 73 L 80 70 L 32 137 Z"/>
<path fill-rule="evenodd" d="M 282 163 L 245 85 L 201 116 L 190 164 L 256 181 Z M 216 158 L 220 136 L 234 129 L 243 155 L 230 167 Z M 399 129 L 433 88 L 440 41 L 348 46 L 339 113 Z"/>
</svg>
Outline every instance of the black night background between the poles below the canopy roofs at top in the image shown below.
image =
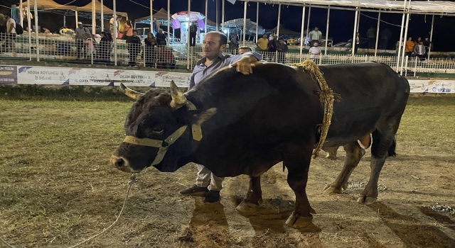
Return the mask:
<svg viewBox="0 0 455 248">
<path fill-rule="evenodd" d="M 38 0 L 39 1 L 39 0 Z M 55 0 L 58 4 L 67 4 L 70 0 Z M 144 6 L 149 6 L 149 0 L 133 0 Z M 418 0 L 412 0 L 418 1 Z M 1 5 L 11 6 L 18 2 L 18 0 L 3 0 Z M 69 4 L 73 6 L 85 6 L 89 4 L 90 0 L 76 0 Z M 112 9 L 112 0 L 105 0 L 104 4 Z M 247 9 L 247 18 L 256 21 L 256 6 L 257 3 L 250 2 Z M 167 0 L 154 0 L 153 9 L 155 11 L 164 8 L 167 9 Z M 178 11 L 186 11 L 188 8 L 188 1 L 186 0 L 171 0 L 171 15 Z M 33 10 L 33 6 L 31 6 Z M 220 3 L 221 9 L 221 3 Z M 235 4 L 230 4 L 228 1 L 225 2 L 225 21 L 229 21 L 235 18 L 243 18 L 244 5 L 242 1 L 237 1 Z M 305 29 L 306 29 L 306 18 L 308 17 L 308 9 L 306 8 L 305 16 Z M 129 0 L 117 0 L 117 11 L 124 11 L 128 13 L 128 17 L 134 21 L 136 18 L 149 16 L 150 10 L 134 4 Z M 191 11 L 199 11 L 205 14 L 205 0 L 192 0 Z M 221 11 L 220 11 L 221 12 Z M 301 13 L 302 8 L 298 6 L 282 6 L 281 13 L 281 24 L 282 26 L 300 32 L 301 30 Z M 0 13 L 10 13 L 9 9 L 0 7 Z M 362 12 L 363 14 L 378 18 L 378 13 L 373 12 Z M 58 31 L 63 26 L 63 16 L 55 13 L 40 13 L 39 25 L 43 28 L 48 28 L 51 32 Z M 221 16 L 221 13 L 220 13 Z M 208 1 L 208 18 L 215 21 L 215 1 Z M 331 10 L 330 26 L 328 30 L 328 36 L 333 38 L 333 43 L 340 43 L 353 38 L 353 24 L 354 24 L 355 12 L 354 11 L 341 11 Z M 360 36 L 366 38 L 366 32 L 368 28 L 377 26 L 377 20 L 368 18 L 366 16 L 360 16 Z M 318 26 L 319 30 L 325 35 L 326 33 L 326 19 L 327 9 L 311 9 L 310 29 L 314 26 Z M 80 21 L 91 24 L 90 19 L 79 18 Z M 221 17 L 220 17 L 221 20 Z M 278 4 L 259 4 L 259 25 L 264 28 L 274 28 L 277 26 L 278 20 Z M 122 23 L 125 20 L 122 20 Z M 400 25 L 402 21 L 401 13 L 382 13 L 381 14 L 380 30 L 389 28 L 392 31 L 392 38 L 390 39 L 390 49 L 392 45 L 395 45 L 396 41 L 400 36 Z M 392 23 L 395 25 L 390 25 Z M 417 37 L 429 37 L 429 31 L 431 29 L 432 16 L 425 15 L 411 15 L 408 37 L 413 39 Z M 74 28 L 75 18 L 74 16 L 67 16 L 66 26 Z M 100 25 L 100 21 L 97 21 L 97 25 Z M 108 26 L 108 21 L 105 21 L 105 26 Z M 434 30 L 432 41 L 434 43 L 434 51 L 455 51 L 455 17 L 447 16 L 435 16 L 434 17 Z"/>
</svg>

